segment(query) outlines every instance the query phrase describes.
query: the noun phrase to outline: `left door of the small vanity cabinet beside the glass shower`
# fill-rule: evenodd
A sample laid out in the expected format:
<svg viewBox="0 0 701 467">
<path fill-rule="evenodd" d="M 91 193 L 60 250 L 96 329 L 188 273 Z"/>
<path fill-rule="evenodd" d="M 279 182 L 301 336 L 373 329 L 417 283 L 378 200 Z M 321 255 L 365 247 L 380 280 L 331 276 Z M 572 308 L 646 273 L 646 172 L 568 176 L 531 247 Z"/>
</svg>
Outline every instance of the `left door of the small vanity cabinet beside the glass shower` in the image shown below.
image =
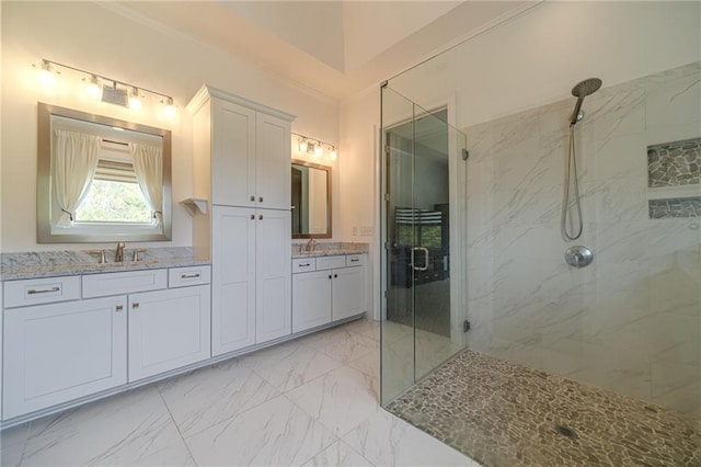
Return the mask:
<svg viewBox="0 0 701 467">
<path fill-rule="evenodd" d="M 292 274 L 292 332 L 331 322 L 332 271 Z"/>
</svg>

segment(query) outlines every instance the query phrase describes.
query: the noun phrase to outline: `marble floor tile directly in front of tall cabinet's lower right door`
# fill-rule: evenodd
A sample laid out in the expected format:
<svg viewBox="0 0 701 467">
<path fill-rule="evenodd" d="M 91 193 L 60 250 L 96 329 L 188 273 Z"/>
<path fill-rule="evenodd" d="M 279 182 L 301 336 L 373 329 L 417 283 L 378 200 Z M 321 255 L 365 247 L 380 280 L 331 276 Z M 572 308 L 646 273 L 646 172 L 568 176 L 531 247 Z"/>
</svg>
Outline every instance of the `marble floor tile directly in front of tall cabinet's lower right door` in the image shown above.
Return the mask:
<svg viewBox="0 0 701 467">
<path fill-rule="evenodd" d="M 296 342 L 241 357 L 241 362 L 286 392 L 341 366 L 341 362 Z"/>
</svg>

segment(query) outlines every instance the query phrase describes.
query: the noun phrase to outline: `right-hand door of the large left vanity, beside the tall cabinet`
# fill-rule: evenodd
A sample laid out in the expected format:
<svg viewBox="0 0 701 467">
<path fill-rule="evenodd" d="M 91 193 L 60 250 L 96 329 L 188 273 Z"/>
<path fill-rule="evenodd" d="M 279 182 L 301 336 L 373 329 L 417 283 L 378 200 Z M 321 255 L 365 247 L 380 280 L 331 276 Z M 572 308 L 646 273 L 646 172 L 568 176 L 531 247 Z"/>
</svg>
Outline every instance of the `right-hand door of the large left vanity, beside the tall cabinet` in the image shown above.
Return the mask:
<svg viewBox="0 0 701 467">
<path fill-rule="evenodd" d="M 129 295 L 129 381 L 209 358 L 209 286 Z"/>
</svg>

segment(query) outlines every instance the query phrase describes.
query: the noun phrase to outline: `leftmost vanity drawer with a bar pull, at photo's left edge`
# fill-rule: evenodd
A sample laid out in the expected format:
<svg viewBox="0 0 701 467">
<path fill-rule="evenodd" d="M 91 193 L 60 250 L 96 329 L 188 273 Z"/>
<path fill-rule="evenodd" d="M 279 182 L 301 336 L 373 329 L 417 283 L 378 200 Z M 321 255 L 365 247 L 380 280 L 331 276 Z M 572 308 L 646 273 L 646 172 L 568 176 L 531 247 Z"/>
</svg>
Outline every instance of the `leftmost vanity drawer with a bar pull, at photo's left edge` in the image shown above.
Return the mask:
<svg viewBox="0 0 701 467">
<path fill-rule="evenodd" d="M 80 298 L 80 276 L 30 278 L 4 283 L 4 307 L 77 300 Z"/>
</svg>

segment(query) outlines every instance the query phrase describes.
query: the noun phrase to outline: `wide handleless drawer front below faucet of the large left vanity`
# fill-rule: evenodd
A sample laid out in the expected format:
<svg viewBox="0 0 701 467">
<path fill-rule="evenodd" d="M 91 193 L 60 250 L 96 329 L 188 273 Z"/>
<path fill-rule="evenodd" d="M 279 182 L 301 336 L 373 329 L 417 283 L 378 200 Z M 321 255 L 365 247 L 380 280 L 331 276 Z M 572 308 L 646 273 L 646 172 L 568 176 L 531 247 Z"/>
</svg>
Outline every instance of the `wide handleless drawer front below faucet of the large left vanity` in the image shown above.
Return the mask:
<svg viewBox="0 0 701 467">
<path fill-rule="evenodd" d="M 168 270 L 128 271 L 83 276 L 83 298 L 158 291 L 166 287 Z"/>
</svg>

